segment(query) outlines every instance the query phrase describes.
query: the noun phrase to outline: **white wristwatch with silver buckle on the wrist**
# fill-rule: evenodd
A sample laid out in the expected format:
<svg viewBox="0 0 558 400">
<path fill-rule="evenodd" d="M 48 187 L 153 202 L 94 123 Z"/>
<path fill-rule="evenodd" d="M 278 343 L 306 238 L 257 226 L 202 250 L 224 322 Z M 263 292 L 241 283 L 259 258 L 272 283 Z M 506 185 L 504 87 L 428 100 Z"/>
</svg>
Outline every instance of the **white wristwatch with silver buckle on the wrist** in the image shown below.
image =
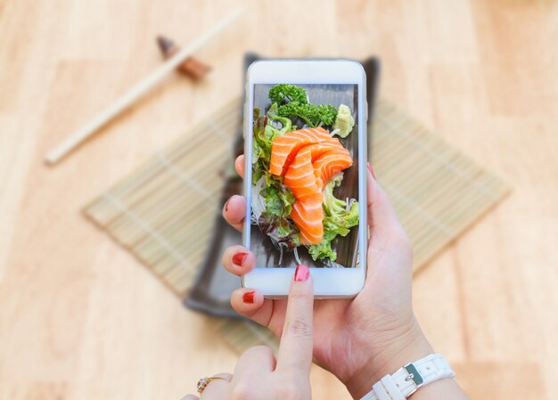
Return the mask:
<svg viewBox="0 0 558 400">
<path fill-rule="evenodd" d="M 384 376 L 360 400 L 405 400 L 418 388 L 445 378 L 455 378 L 446 359 L 439 354 L 427 355 L 414 363 L 407 363 L 392 375 Z"/>
</svg>

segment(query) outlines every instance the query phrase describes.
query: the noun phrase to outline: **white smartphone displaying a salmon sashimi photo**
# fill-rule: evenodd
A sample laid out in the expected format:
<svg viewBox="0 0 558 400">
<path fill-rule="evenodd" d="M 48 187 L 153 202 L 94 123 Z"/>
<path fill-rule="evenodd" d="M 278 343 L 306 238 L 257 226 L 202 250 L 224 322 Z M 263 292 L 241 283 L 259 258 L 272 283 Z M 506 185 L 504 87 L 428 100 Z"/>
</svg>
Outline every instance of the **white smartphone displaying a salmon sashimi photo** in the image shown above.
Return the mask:
<svg viewBox="0 0 558 400">
<path fill-rule="evenodd" d="M 244 103 L 242 286 L 288 295 L 310 267 L 316 298 L 351 298 L 366 275 L 366 77 L 351 60 L 250 65 Z"/>
</svg>

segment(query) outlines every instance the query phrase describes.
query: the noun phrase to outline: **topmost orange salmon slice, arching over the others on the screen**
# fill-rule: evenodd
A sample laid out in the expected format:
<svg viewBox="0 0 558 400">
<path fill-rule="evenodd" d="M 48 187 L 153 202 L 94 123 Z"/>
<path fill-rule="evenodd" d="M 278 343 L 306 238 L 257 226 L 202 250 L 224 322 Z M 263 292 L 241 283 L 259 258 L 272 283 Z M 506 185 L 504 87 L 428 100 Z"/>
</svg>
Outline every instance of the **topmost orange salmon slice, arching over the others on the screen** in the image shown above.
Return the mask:
<svg viewBox="0 0 558 400">
<path fill-rule="evenodd" d="M 284 176 L 300 148 L 322 142 L 339 143 L 339 140 L 332 138 L 322 127 L 300 129 L 275 137 L 271 143 L 269 172 L 275 176 Z"/>
</svg>

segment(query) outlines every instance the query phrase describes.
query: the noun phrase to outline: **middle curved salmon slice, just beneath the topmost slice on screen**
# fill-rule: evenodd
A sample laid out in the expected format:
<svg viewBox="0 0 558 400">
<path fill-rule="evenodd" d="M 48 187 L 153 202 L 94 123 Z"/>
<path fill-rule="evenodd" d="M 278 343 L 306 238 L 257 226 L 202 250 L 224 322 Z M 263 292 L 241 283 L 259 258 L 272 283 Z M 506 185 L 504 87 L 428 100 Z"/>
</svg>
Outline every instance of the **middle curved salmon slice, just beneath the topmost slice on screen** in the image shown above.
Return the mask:
<svg viewBox="0 0 558 400">
<path fill-rule="evenodd" d="M 334 151 L 337 154 L 342 150 L 344 149 L 339 141 L 314 143 L 300 148 L 287 169 L 283 183 L 291 188 L 292 194 L 297 199 L 321 192 L 324 185 L 320 170 L 316 169 L 313 163 L 329 152 Z"/>
</svg>

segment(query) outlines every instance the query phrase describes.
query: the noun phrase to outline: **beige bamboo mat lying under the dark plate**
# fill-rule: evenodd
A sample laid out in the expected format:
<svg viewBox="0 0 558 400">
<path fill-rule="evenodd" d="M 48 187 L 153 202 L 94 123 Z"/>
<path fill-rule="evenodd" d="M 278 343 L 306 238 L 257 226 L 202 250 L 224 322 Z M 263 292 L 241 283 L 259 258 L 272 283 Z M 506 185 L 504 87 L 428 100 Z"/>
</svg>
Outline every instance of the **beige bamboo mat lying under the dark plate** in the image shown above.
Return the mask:
<svg viewBox="0 0 558 400">
<path fill-rule="evenodd" d="M 85 208 L 85 214 L 185 298 L 220 213 L 224 168 L 241 120 L 226 103 Z M 508 187 L 395 106 L 373 115 L 374 173 L 414 243 L 414 271 L 501 200 Z M 250 322 L 217 327 L 238 351 L 273 335 Z"/>
</svg>

